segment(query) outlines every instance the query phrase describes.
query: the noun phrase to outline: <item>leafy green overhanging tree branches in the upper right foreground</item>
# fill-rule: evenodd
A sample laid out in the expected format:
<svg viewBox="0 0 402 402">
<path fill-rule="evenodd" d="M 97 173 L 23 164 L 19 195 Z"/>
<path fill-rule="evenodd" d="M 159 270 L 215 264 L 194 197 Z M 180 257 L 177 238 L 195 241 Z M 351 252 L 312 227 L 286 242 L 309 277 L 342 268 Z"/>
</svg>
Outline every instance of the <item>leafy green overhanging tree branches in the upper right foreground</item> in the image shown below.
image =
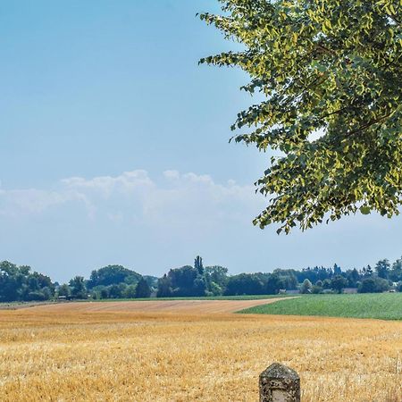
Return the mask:
<svg viewBox="0 0 402 402">
<path fill-rule="evenodd" d="M 200 63 L 238 66 L 264 100 L 238 114 L 234 138 L 273 150 L 256 182 L 255 218 L 286 233 L 402 202 L 400 0 L 220 0 L 201 14 L 242 45 Z"/>
</svg>

